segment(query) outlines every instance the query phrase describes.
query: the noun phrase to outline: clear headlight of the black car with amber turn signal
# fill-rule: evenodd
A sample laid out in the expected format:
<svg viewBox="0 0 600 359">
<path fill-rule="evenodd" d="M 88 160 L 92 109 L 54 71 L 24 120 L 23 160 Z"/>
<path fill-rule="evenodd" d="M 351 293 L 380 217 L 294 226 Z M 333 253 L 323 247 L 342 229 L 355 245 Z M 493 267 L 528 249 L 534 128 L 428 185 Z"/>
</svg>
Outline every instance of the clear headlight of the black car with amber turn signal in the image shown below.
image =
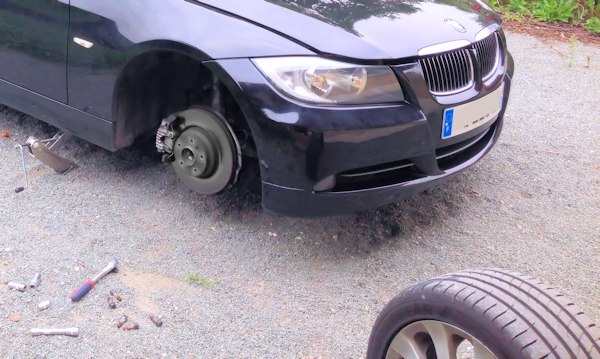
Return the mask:
<svg viewBox="0 0 600 359">
<path fill-rule="evenodd" d="M 275 57 L 253 60 L 281 91 L 305 102 L 373 104 L 404 99 L 388 66 L 346 64 L 317 57 Z"/>
</svg>

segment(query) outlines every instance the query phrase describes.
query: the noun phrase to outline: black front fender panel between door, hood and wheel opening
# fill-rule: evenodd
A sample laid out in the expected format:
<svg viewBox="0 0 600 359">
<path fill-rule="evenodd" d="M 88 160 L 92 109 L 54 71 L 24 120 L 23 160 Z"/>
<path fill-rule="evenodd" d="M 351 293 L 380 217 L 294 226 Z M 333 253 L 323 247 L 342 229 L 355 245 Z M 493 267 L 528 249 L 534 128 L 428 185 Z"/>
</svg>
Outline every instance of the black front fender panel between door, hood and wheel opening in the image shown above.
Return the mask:
<svg viewBox="0 0 600 359">
<path fill-rule="evenodd" d="M 199 63 L 314 55 L 267 29 L 184 0 L 71 0 L 68 39 L 68 104 L 109 122 L 116 121 L 119 78 L 148 52 L 174 51 Z"/>
</svg>

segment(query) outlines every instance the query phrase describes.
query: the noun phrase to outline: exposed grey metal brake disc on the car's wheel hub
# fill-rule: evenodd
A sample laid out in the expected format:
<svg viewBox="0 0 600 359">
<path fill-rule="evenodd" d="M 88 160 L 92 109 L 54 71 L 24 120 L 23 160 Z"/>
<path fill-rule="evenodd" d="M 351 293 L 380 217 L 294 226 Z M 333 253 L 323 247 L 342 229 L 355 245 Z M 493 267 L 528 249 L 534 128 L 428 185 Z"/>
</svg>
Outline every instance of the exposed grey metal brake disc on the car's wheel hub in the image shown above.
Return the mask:
<svg viewBox="0 0 600 359">
<path fill-rule="evenodd" d="M 216 194 L 235 183 L 241 168 L 241 149 L 225 119 L 203 110 L 177 114 L 173 130 L 173 168 L 191 190 Z"/>
</svg>

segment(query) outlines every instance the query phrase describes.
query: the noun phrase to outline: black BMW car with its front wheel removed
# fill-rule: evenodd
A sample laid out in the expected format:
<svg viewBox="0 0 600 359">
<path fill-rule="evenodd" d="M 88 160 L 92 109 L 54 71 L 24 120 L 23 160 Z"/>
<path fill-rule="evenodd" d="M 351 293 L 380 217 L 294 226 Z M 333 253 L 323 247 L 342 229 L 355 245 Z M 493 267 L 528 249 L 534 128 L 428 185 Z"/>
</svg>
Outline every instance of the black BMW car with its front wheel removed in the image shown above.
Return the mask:
<svg viewBox="0 0 600 359">
<path fill-rule="evenodd" d="M 513 61 L 480 0 L 0 0 L 0 102 L 192 190 L 258 163 L 323 216 L 442 183 L 500 135 Z M 241 171 L 241 175 L 244 175 Z"/>
</svg>

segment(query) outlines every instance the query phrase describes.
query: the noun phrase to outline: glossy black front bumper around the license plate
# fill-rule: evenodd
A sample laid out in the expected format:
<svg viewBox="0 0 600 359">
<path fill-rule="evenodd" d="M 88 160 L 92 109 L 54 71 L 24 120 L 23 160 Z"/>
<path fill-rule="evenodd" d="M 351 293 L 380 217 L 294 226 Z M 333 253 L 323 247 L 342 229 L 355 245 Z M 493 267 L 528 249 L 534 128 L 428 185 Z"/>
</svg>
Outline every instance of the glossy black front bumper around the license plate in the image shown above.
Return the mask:
<svg viewBox="0 0 600 359">
<path fill-rule="evenodd" d="M 416 64 L 393 67 L 406 102 L 318 107 L 281 96 L 248 60 L 221 60 L 213 70 L 232 79 L 261 165 L 266 210 L 328 216 L 379 207 L 441 183 L 481 159 L 500 136 L 513 63 L 507 56 L 493 86 L 434 98 Z M 443 140 L 445 108 L 504 85 L 497 118 Z M 236 92 L 234 90 L 234 92 Z M 444 105 L 444 101 L 447 102 Z"/>
</svg>

